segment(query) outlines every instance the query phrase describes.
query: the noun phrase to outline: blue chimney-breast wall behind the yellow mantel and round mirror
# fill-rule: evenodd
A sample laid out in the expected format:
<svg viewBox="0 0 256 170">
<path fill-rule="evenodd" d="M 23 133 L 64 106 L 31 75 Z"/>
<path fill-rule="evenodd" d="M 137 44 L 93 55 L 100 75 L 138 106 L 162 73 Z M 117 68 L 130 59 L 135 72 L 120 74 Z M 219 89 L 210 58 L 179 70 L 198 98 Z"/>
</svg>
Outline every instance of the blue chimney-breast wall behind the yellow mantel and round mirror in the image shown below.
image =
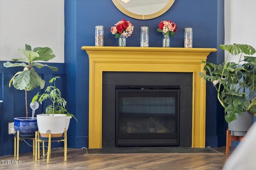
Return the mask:
<svg viewBox="0 0 256 170">
<path fill-rule="evenodd" d="M 140 27 L 148 26 L 150 47 L 162 47 L 163 35 L 157 33 L 158 23 L 172 20 L 178 30 L 170 38 L 171 47 L 184 47 L 184 28 L 193 28 L 193 47 L 216 48 L 208 61 L 222 63 L 224 52 L 224 0 L 176 0 L 172 7 L 158 18 L 137 20 L 120 12 L 110 0 L 65 0 L 65 66 L 67 100 L 72 103 L 78 123 L 72 124 L 69 147 L 88 147 L 88 55 L 82 46 L 94 46 L 95 26 L 104 26 L 104 46 L 118 46 L 118 39 L 110 28 L 125 19 L 134 25 L 126 46 L 140 46 Z M 122 54 L 120 54 L 122 55 Z M 206 146 L 225 145 L 224 111 L 218 104 L 216 92 L 207 86 L 206 97 Z"/>
</svg>

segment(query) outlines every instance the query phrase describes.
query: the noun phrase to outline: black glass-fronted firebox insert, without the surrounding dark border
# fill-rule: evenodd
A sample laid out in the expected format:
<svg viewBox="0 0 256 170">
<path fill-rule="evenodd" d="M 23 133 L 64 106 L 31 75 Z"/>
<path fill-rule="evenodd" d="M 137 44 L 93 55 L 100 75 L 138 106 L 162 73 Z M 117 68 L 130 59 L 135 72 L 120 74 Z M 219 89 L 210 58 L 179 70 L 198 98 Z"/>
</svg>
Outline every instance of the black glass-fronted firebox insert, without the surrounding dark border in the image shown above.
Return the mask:
<svg viewBox="0 0 256 170">
<path fill-rule="evenodd" d="M 179 86 L 116 86 L 116 147 L 179 146 L 179 131 Z"/>
</svg>

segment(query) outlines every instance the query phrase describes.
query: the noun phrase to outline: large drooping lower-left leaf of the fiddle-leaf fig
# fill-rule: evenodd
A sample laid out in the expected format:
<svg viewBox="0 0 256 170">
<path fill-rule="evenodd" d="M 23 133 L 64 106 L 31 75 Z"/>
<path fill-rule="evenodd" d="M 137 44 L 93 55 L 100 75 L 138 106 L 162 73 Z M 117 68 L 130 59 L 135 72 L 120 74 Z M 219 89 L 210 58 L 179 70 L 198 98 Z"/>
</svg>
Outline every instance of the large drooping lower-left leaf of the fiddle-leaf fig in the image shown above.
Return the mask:
<svg viewBox="0 0 256 170">
<path fill-rule="evenodd" d="M 12 85 L 18 90 L 24 90 L 30 82 L 30 70 L 25 70 L 13 78 Z"/>
</svg>

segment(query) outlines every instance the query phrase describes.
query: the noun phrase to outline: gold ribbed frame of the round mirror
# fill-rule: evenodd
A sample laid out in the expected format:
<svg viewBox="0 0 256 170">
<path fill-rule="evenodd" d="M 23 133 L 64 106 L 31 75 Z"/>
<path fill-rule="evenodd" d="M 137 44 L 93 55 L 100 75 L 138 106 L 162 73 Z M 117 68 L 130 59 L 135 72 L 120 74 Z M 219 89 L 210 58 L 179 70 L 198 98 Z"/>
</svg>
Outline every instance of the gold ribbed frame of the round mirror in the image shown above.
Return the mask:
<svg viewBox="0 0 256 170">
<path fill-rule="evenodd" d="M 140 14 L 134 14 L 128 10 L 126 10 L 119 2 L 118 0 L 112 0 L 112 2 L 114 3 L 114 5 L 116 6 L 116 8 L 118 8 L 118 10 L 120 10 L 122 13 L 124 13 L 125 15 L 138 19 L 138 20 L 150 20 L 153 18 L 156 18 L 162 14 L 164 14 L 167 10 L 169 10 L 169 8 L 172 6 L 172 4 L 174 3 L 175 0 L 169 0 L 169 2 L 166 4 L 166 6 L 164 6 L 164 8 L 162 8 L 162 10 L 155 12 L 153 14 L 149 14 L 149 15 L 140 15 Z"/>
</svg>

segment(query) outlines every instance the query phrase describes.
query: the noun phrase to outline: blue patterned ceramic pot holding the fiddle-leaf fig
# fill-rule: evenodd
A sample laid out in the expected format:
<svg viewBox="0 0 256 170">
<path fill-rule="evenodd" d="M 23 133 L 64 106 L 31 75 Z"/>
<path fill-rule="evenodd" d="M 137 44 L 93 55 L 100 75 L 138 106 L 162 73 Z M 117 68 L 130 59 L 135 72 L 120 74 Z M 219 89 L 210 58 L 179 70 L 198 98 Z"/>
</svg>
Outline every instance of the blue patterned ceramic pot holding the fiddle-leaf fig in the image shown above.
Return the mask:
<svg viewBox="0 0 256 170">
<path fill-rule="evenodd" d="M 15 133 L 20 131 L 20 135 L 35 135 L 38 131 L 36 118 L 32 117 L 15 117 L 14 118 L 14 129 Z"/>
</svg>

